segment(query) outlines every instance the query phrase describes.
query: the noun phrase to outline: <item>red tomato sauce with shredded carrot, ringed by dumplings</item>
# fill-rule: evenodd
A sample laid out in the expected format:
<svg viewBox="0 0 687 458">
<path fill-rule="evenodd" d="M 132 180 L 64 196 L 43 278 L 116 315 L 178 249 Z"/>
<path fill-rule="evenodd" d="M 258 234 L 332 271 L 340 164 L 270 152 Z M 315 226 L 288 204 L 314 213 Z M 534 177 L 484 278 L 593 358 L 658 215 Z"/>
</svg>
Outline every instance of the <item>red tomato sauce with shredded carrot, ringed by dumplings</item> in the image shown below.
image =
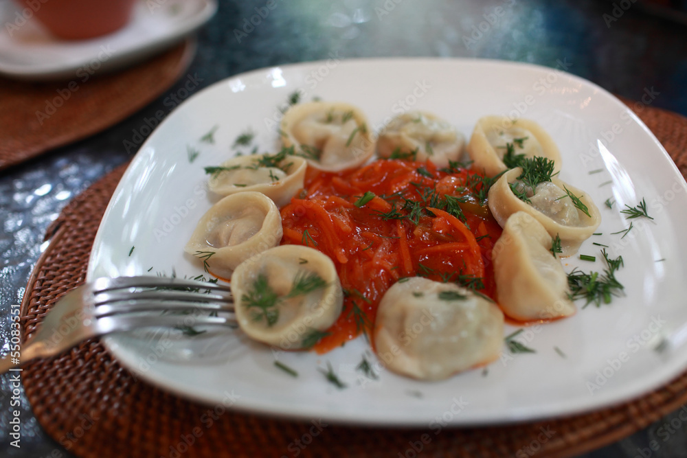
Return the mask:
<svg viewBox="0 0 687 458">
<path fill-rule="evenodd" d="M 328 255 L 344 291 L 343 312 L 315 351 L 369 336 L 379 301 L 404 277 L 458 282 L 496 299 L 491 250 L 502 229 L 486 207 L 487 186 L 471 170 L 400 159 L 308 169 L 304 190 L 282 209 L 282 244 Z"/>
</svg>

